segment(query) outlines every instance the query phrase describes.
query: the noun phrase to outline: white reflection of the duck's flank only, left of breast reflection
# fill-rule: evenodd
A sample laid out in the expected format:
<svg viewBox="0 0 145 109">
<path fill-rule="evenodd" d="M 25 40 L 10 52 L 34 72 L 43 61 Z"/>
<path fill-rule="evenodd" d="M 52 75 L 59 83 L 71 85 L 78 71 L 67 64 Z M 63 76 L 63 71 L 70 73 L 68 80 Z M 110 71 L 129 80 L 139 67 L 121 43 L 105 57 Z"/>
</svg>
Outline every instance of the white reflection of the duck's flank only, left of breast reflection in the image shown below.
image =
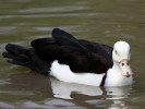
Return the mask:
<svg viewBox="0 0 145 109">
<path fill-rule="evenodd" d="M 72 99 L 71 98 L 72 93 L 77 93 L 88 96 L 102 95 L 102 90 L 99 87 L 61 82 L 53 77 L 50 77 L 50 82 L 55 97 Z"/>
</svg>

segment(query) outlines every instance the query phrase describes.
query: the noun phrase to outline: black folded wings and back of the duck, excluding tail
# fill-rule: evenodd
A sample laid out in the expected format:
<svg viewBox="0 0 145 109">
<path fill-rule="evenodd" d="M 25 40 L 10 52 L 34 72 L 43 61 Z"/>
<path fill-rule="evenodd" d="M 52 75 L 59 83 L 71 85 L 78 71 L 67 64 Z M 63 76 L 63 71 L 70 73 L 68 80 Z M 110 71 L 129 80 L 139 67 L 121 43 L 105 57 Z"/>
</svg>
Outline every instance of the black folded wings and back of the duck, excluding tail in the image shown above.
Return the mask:
<svg viewBox="0 0 145 109">
<path fill-rule="evenodd" d="M 52 38 L 33 40 L 32 47 L 48 64 L 58 60 L 70 65 L 73 72 L 106 73 L 112 65 L 111 47 L 77 40 L 59 28 L 52 31 Z"/>
</svg>

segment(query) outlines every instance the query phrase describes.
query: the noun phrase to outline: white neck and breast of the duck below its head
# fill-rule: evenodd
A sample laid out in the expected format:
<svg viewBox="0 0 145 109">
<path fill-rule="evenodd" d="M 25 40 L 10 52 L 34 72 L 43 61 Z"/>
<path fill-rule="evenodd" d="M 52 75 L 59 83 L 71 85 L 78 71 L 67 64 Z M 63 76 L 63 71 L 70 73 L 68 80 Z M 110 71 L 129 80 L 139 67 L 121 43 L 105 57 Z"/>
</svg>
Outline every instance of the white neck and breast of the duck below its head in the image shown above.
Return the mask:
<svg viewBox="0 0 145 109">
<path fill-rule="evenodd" d="M 108 70 L 105 86 L 125 86 L 132 84 L 132 76 L 122 75 L 119 63 L 113 62 L 113 66 Z"/>
</svg>

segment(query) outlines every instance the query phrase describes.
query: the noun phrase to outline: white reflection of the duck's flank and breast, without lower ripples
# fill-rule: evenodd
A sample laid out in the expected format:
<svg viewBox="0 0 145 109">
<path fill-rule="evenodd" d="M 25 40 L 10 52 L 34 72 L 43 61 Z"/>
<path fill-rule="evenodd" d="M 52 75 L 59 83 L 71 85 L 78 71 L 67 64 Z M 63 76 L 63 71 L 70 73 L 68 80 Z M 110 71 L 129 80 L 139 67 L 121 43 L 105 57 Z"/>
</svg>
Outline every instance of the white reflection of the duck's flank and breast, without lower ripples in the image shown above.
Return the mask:
<svg viewBox="0 0 145 109">
<path fill-rule="evenodd" d="M 126 98 L 130 94 L 131 86 L 128 87 L 95 87 L 87 85 L 80 85 L 73 83 L 67 83 L 50 77 L 51 88 L 55 97 L 72 99 L 71 94 L 77 93 L 88 96 L 111 95 L 107 99 L 122 99 Z"/>
</svg>

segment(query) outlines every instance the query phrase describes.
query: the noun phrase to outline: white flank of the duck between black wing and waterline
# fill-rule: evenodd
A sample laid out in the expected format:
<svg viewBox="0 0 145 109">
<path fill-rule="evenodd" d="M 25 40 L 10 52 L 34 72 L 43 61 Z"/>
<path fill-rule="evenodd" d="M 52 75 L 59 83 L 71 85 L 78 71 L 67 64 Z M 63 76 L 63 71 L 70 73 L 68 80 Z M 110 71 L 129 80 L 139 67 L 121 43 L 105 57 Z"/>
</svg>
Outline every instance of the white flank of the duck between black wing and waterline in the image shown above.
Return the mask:
<svg viewBox="0 0 145 109">
<path fill-rule="evenodd" d="M 69 65 L 60 64 L 58 60 L 55 60 L 51 63 L 50 75 L 63 82 L 99 86 L 105 74 L 74 73 Z"/>
</svg>

